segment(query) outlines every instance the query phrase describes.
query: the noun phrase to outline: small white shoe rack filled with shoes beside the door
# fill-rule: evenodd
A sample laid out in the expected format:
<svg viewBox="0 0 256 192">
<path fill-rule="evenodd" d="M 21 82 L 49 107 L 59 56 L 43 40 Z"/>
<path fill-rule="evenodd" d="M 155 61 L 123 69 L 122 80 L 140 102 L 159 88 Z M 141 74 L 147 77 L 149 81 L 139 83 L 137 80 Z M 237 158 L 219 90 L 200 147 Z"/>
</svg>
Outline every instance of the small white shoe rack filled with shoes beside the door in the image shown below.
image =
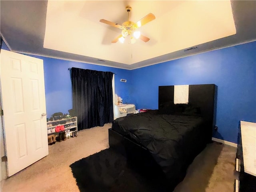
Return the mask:
<svg viewBox="0 0 256 192">
<path fill-rule="evenodd" d="M 77 137 L 77 117 L 63 118 L 47 122 L 48 144 Z"/>
</svg>

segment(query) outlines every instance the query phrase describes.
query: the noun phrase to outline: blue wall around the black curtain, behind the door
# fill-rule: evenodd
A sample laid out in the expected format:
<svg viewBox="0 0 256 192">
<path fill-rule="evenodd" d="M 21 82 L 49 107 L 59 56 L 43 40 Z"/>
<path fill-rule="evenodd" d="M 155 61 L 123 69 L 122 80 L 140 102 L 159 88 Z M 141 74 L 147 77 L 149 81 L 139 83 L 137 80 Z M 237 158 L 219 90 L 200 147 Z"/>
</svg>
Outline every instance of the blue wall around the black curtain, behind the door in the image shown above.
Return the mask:
<svg viewBox="0 0 256 192">
<path fill-rule="evenodd" d="M 2 49 L 9 50 L 4 42 L 2 44 Z M 68 68 L 72 67 L 116 73 L 115 93 L 122 97 L 124 102 L 131 102 L 130 94 L 128 93 L 130 92 L 129 84 L 131 83 L 129 70 L 42 56 L 28 56 L 44 60 L 44 85 L 46 112 L 48 117 L 55 112 L 68 113 L 68 110 L 72 108 L 72 85 L 70 80 L 70 71 L 68 70 Z M 126 79 L 127 82 L 120 82 L 121 78 Z"/>
</svg>

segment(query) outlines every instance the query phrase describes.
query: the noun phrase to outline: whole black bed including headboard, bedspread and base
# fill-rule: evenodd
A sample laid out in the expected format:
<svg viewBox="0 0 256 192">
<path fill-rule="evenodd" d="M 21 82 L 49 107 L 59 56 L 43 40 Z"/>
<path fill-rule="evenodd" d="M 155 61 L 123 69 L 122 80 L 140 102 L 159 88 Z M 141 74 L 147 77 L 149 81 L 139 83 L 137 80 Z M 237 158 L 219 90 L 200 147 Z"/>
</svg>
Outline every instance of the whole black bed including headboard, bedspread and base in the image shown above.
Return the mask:
<svg viewBox="0 0 256 192">
<path fill-rule="evenodd" d="M 216 100 L 214 84 L 189 85 L 188 104 L 174 104 L 174 86 L 159 86 L 158 110 L 114 120 L 109 145 L 173 190 L 212 141 Z"/>
</svg>

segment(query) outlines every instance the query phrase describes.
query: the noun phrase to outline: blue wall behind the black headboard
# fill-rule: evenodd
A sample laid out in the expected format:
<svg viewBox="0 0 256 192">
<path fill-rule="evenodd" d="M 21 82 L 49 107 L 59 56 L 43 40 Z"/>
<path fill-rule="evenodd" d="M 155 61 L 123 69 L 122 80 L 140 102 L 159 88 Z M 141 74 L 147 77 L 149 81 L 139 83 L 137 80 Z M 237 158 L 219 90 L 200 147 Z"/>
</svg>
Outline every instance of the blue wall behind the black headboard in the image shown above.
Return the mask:
<svg viewBox="0 0 256 192">
<path fill-rule="evenodd" d="M 214 137 L 237 143 L 240 120 L 256 122 L 256 42 L 132 70 L 132 103 L 158 109 L 158 86 L 216 84 Z"/>
</svg>

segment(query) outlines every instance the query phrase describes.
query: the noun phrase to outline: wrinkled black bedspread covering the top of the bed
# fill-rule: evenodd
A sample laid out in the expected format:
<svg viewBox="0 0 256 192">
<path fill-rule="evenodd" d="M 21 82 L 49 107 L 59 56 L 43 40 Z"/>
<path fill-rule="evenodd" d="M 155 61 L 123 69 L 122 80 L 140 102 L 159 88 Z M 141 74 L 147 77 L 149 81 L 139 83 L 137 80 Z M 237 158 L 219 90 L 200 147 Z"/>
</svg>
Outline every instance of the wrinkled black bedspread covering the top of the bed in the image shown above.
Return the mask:
<svg viewBox="0 0 256 192">
<path fill-rule="evenodd" d="M 148 149 L 166 176 L 177 180 L 184 178 L 189 164 L 206 146 L 207 129 L 200 116 L 150 110 L 118 118 L 112 129 Z"/>
</svg>

